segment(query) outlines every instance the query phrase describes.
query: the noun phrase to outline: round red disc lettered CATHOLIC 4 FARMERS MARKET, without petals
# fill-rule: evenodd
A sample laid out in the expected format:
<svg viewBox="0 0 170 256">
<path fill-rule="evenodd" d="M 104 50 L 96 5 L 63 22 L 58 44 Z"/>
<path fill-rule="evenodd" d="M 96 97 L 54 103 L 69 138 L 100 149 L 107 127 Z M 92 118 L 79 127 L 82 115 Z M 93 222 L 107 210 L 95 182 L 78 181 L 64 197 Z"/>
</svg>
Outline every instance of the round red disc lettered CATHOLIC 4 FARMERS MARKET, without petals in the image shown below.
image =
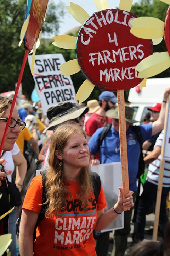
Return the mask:
<svg viewBox="0 0 170 256">
<path fill-rule="evenodd" d="M 78 34 L 77 59 L 87 78 L 108 91 L 127 90 L 140 84 L 136 65 L 153 53 L 151 40 L 130 33 L 137 16 L 107 9 L 86 20 Z"/>
</svg>

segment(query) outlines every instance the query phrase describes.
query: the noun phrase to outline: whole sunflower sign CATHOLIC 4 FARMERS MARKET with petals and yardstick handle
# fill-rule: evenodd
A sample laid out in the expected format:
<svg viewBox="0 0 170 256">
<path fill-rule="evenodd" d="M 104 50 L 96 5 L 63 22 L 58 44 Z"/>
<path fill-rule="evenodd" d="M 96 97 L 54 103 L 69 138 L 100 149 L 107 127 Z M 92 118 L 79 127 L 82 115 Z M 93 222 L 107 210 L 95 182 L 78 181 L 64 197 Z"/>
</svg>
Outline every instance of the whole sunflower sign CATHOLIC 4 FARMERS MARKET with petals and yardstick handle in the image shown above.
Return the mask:
<svg viewBox="0 0 170 256">
<path fill-rule="evenodd" d="M 119 110 L 120 153 L 124 196 L 129 190 L 124 90 L 135 87 L 143 79 L 137 77 L 136 65 L 153 53 L 152 40 L 140 39 L 130 33 L 130 21 L 137 18 L 130 11 L 132 0 L 121 0 L 119 9 L 109 8 L 107 0 L 94 0 L 98 12 L 89 16 L 77 4 L 67 6 L 70 14 L 83 26 L 78 37 L 55 36 L 53 44 L 76 49 L 77 59 L 60 66 L 62 75 L 80 70 L 86 80 L 80 86 L 76 100 L 83 102 L 95 86 L 117 91 Z"/>
</svg>

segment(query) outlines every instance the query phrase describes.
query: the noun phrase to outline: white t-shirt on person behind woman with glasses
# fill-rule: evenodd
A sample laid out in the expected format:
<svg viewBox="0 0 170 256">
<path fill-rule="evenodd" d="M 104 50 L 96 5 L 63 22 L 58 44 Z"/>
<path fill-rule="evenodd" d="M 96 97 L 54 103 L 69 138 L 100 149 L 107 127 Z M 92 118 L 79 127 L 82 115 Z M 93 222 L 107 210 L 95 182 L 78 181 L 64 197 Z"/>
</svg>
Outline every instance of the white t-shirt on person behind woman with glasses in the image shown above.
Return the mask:
<svg viewBox="0 0 170 256">
<path fill-rule="evenodd" d="M 20 149 L 18 148 L 17 144 L 15 143 L 13 149 L 11 151 L 6 151 L 3 155 L 5 161 L 3 162 L 5 172 L 8 177 L 8 181 L 12 182 L 12 173 L 14 171 L 14 162 L 13 162 L 13 155 L 17 155 Z"/>
</svg>

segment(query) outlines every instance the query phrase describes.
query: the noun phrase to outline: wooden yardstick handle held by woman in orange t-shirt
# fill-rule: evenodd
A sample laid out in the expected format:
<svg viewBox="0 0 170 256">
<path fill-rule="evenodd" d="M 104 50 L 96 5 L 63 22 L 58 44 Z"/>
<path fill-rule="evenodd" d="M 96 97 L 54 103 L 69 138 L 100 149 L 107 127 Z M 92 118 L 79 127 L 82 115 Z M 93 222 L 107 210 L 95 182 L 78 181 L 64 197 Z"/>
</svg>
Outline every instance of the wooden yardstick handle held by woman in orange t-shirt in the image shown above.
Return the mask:
<svg viewBox="0 0 170 256">
<path fill-rule="evenodd" d="M 123 199 L 125 199 L 125 196 L 129 192 L 129 175 L 128 175 L 128 154 L 127 154 L 127 139 L 126 139 L 124 90 L 118 90 L 117 96 L 118 96 L 118 114 L 119 114 L 121 178 L 122 178 L 122 186 L 123 186 Z M 130 210 L 129 207 L 125 207 L 125 206 L 123 209 Z"/>
</svg>

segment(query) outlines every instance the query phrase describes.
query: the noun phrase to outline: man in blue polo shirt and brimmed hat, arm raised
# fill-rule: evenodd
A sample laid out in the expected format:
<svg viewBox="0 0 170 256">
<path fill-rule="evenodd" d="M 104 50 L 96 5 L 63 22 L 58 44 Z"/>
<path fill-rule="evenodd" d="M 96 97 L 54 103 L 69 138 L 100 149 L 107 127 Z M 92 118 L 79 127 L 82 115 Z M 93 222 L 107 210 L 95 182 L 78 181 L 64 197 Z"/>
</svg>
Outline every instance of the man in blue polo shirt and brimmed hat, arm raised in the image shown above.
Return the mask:
<svg viewBox="0 0 170 256">
<path fill-rule="evenodd" d="M 165 102 L 170 93 L 170 88 L 167 88 L 164 91 L 162 108 L 159 114 L 159 118 L 151 123 L 139 126 L 140 133 L 142 137 L 142 141 L 149 139 L 152 135 L 158 133 L 163 129 L 164 125 L 164 116 L 165 116 Z M 128 149 L 128 171 L 129 171 L 129 187 L 130 190 L 134 191 L 134 200 L 137 195 L 137 173 L 138 173 L 138 163 L 141 154 L 140 143 L 136 138 L 136 133 L 131 125 L 135 123 L 133 119 L 134 109 L 125 106 L 125 116 L 126 116 L 126 136 L 127 136 L 127 149 Z M 106 134 L 103 139 L 102 145 L 100 146 L 100 159 L 101 163 L 109 163 L 109 162 L 120 162 L 120 140 L 119 140 L 119 119 L 118 119 L 118 108 L 111 109 L 107 113 L 107 116 L 112 118 L 112 126 L 111 129 Z M 98 144 L 100 135 L 103 128 L 99 128 L 96 130 L 94 135 L 89 140 L 89 149 L 92 155 L 96 154 L 98 151 Z M 131 220 L 132 210 L 125 211 L 124 213 L 124 228 L 120 230 L 115 230 L 115 256 L 124 256 L 127 239 L 130 233 L 130 220 Z M 106 237 L 107 241 L 109 240 Z M 107 255 L 108 251 L 108 243 L 104 239 L 102 240 L 101 250 L 102 248 L 106 248 L 103 255 Z M 104 254 L 105 253 L 105 254 Z"/>
</svg>

